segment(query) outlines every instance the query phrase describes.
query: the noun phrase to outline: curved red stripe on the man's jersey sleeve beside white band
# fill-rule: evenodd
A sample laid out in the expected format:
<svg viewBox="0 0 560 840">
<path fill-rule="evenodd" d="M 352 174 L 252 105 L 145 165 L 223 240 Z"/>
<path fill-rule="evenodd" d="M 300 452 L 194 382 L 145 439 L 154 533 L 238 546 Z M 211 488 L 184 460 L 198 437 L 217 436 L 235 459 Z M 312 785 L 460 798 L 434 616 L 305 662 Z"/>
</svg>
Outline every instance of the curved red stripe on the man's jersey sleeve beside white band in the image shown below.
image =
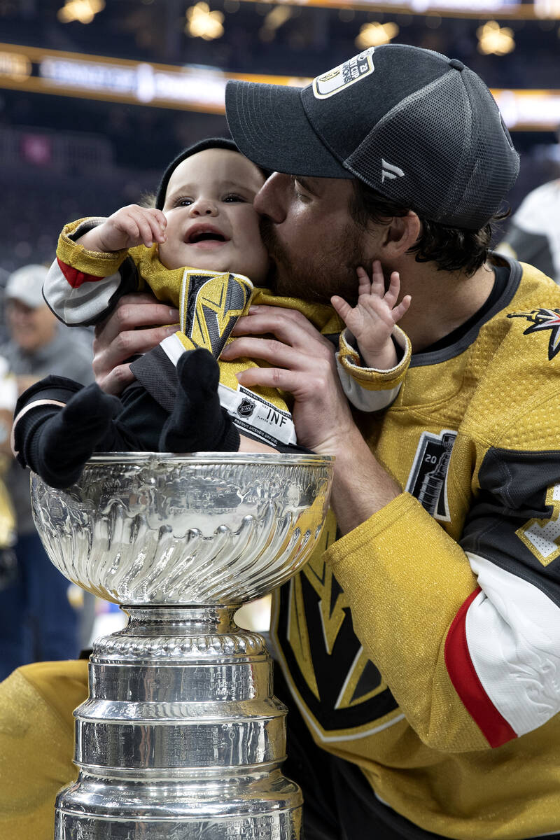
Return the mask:
<svg viewBox="0 0 560 840">
<path fill-rule="evenodd" d="M 453 687 L 463 701 L 468 714 L 480 728 L 490 747 L 500 747 L 512 738 L 517 738 L 516 732 L 510 727 L 505 717 L 500 715 L 484 691 L 484 686 L 479 680 L 479 675 L 468 653 L 465 622 L 468 607 L 479 592 L 478 586 L 472 595 L 468 596 L 449 627 L 445 640 L 445 664 Z"/>
</svg>

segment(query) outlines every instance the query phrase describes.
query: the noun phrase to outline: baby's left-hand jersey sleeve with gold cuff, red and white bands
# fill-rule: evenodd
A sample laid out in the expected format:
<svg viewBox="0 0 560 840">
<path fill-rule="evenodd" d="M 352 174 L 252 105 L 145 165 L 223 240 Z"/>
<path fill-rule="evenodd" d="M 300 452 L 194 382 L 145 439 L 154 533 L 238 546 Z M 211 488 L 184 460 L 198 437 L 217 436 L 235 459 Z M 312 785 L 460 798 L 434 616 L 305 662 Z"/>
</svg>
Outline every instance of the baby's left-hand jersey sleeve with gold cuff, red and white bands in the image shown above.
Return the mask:
<svg viewBox="0 0 560 840">
<path fill-rule="evenodd" d="M 65 225 L 56 248 L 56 260 L 44 281 L 44 300 L 69 327 L 90 326 L 101 321 L 112 312 L 119 297 L 144 288 L 128 250 L 90 251 L 76 242 L 103 221 L 83 218 Z"/>
</svg>

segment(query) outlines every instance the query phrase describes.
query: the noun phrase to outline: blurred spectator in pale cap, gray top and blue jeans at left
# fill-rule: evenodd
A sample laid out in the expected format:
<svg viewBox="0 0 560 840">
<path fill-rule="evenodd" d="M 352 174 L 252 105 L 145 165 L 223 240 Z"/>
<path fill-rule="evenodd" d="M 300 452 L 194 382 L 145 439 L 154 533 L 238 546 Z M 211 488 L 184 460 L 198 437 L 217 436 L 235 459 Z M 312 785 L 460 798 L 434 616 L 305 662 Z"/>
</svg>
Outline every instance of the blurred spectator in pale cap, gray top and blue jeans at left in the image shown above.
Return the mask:
<svg viewBox="0 0 560 840">
<path fill-rule="evenodd" d="M 92 351 L 64 328 L 44 302 L 47 269 L 24 265 L 8 277 L 5 312 L 10 340 L 0 349 L 16 376 L 18 392 L 50 373 L 89 384 Z M 79 616 L 69 583 L 48 559 L 34 528 L 29 472 L 12 461 L 8 489 L 16 513 L 17 575 L 0 591 L 0 680 L 14 668 L 47 659 L 73 659 L 79 652 Z"/>
</svg>

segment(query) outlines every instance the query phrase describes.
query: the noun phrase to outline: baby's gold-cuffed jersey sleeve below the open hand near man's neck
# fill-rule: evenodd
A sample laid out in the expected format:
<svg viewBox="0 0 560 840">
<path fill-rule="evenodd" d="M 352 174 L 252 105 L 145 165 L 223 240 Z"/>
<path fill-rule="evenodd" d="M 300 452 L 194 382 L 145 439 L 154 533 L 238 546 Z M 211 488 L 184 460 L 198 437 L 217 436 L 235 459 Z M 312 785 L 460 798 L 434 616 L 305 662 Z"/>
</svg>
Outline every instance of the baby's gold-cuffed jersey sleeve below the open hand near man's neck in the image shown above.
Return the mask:
<svg viewBox="0 0 560 840">
<path fill-rule="evenodd" d="M 399 393 L 406 370 L 411 362 L 411 342 L 400 327 L 393 333 L 399 360 L 390 370 L 377 370 L 362 365 L 352 333 L 340 333 L 337 370 L 343 391 L 353 407 L 363 412 L 378 412 L 390 406 Z"/>
</svg>

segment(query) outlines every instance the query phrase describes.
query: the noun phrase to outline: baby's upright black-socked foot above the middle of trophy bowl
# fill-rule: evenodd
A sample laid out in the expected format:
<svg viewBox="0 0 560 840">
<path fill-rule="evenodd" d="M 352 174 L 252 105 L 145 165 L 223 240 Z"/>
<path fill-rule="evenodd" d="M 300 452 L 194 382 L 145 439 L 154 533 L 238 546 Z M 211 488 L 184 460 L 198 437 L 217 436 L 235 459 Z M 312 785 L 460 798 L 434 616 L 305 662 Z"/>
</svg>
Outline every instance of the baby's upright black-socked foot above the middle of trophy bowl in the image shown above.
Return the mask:
<svg viewBox="0 0 560 840">
<path fill-rule="evenodd" d="M 160 435 L 160 452 L 237 452 L 239 433 L 220 405 L 220 369 L 207 349 L 177 362 L 175 407 Z"/>
</svg>

